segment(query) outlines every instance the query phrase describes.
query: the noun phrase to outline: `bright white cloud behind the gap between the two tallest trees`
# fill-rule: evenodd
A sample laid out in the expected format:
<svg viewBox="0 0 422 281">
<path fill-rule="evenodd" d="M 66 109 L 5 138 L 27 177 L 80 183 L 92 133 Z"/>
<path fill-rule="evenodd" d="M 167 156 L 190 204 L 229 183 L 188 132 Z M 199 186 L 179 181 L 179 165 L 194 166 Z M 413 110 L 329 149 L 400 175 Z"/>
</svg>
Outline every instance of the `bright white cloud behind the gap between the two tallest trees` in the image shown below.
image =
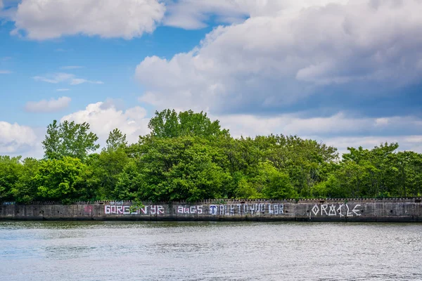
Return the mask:
<svg viewBox="0 0 422 281">
<path fill-rule="evenodd" d="M 146 117 L 145 109 L 132 107 L 127 110 L 117 110 L 110 100 L 107 103 L 91 103 L 85 110 L 66 115 L 60 122 L 65 120 L 88 122 L 91 131 L 97 134 L 102 144 L 106 143 L 108 133 L 116 128 L 127 134 L 129 143 L 136 143 L 139 136 L 149 132 L 149 118 Z"/>
</svg>

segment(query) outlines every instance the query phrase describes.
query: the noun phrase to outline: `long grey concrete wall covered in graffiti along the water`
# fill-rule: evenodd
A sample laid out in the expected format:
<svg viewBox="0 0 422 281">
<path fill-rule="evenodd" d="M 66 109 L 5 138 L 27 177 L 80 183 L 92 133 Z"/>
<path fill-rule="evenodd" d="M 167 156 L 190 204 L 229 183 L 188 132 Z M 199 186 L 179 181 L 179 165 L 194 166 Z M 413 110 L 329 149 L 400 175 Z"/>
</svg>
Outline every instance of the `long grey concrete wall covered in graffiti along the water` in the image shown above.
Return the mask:
<svg viewBox="0 0 422 281">
<path fill-rule="evenodd" d="M 422 222 L 421 198 L 338 200 L 205 200 L 144 203 L 0 204 L 0 220 L 397 221 Z"/>
</svg>

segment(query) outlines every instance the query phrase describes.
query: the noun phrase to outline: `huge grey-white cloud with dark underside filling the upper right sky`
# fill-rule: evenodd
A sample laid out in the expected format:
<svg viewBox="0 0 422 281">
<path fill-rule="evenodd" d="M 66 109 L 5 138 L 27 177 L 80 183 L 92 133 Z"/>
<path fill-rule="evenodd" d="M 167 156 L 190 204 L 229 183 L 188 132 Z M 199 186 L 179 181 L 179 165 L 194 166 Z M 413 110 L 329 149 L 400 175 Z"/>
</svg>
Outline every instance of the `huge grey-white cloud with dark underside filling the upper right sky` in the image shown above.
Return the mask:
<svg viewBox="0 0 422 281">
<path fill-rule="evenodd" d="M 146 89 L 140 100 L 160 108 L 268 112 L 332 89 L 379 95 L 380 85 L 390 91 L 421 81 L 421 1 L 284 2 L 291 7 L 258 9 L 240 24 L 215 28 L 188 53 L 145 58 L 136 67 Z"/>
</svg>

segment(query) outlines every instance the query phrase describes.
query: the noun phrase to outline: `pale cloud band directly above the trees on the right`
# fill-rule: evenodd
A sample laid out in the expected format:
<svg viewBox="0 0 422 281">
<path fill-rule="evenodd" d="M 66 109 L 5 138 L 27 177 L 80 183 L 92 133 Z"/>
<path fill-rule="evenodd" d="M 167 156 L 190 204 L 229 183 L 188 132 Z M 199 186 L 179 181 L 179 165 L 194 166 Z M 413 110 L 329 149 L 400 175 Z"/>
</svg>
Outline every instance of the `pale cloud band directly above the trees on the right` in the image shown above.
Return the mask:
<svg viewBox="0 0 422 281">
<path fill-rule="evenodd" d="M 399 150 L 422 153 L 422 119 L 408 117 L 348 117 L 340 112 L 329 117 L 304 117 L 298 114 L 257 117 L 255 115 L 210 116 L 219 119 L 232 136 L 297 135 L 338 148 L 373 148 L 381 143 L 399 143 Z"/>
</svg>

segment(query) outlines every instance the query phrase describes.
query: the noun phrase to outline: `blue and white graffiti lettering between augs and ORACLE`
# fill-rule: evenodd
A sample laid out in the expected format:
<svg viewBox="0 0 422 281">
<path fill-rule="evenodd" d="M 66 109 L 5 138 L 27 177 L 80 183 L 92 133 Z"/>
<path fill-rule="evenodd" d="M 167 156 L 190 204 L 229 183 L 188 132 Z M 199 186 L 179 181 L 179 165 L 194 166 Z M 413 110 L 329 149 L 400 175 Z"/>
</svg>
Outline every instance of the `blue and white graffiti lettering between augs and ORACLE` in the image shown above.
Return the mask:
<svg viewBox="0 0 422 281">
<path fill-rule="evenodd" d="M 221 204 L 210 205 L 210 215 L 212 216 L 234 216 L 240 215 L 281 215 L 284 214 L 283 204 Z"/>
</svg>

